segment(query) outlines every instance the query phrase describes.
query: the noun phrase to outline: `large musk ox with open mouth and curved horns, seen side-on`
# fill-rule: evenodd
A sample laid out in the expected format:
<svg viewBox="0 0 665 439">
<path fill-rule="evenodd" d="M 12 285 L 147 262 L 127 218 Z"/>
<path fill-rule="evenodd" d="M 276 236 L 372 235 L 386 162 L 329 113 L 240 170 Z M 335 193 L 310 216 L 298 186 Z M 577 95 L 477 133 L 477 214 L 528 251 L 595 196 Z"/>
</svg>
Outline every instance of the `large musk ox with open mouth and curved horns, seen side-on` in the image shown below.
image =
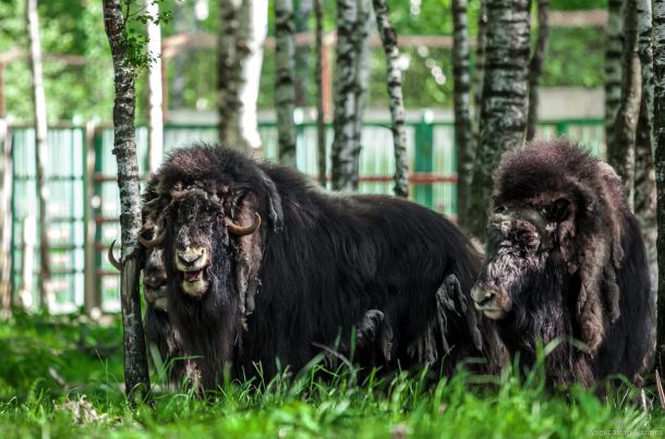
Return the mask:
<svg viewBox="0 0 665 439">
<path fill-rule="evenodd" d="M 205 389 L 227 371 L 267 380 L 319 353 L 351 355 L 354 343 L 363 368 L 449 374 L 484 358 L 477 368 L 496 370 L 496 333 L 470 297 L 480 257 L 443 216 L 331 195 L 217 146 L 177 150 L 154 179 L 145 208 L 160 214 L 142 241 L 161 244 L 170 322 Z"/>
</svg>

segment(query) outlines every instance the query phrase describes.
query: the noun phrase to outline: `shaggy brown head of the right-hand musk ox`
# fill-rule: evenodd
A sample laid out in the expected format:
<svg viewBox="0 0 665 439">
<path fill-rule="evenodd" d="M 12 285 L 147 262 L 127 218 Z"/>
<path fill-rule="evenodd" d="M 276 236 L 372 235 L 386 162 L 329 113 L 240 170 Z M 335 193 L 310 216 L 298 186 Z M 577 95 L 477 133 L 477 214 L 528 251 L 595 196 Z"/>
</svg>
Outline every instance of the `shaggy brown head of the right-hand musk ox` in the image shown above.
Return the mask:
<svg viewBox="0 0 665 439">
<path fill-rule="evenodd" d="M 542 141 L 507 153 L 494 184 L 476 308 L 533 337 L 567 325 L 595 351 L 619 314 L 617 174 L 568 141 Z"/>
</svg>

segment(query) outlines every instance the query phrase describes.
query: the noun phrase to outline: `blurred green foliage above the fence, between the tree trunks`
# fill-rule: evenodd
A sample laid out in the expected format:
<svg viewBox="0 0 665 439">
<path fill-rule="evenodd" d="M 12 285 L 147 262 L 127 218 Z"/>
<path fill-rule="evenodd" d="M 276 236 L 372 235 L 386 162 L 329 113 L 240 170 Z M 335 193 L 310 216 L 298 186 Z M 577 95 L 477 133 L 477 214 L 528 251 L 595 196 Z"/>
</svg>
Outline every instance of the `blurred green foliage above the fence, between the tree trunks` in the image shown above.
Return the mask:
<svg viewBox="0 0 665 439">
<path fill-rule="evenodd" d="M 324 2 L 324 31 L 336 28 L 335 2 Z M 399 35 L 452 36 L 449 17 L 450 0 L 387 1 L 390 17 Z M 553 0 L 552 10 L 588 10 L 607 7 L 606 0 Z M 164 10 L 173 17 L 162 25 L 162 37 L 181 32 L 215 34 L 217 3 L 214 1 L 165 0 Z M 480 1 L 469 4 L 469 32 L 472 40 L 477 32 Z M 314 31 L 312 0 L 294 1 L 297 33 Z M 26 47 L 24 0 L 0 0 L 0 53 Z M 442 15 L 442 12 L 444 15 Z M 47 56 L 45 60 L 46 98 L 49 121 L 82 123 L 95 119 L 110 121 L 113 99 L 111 62 L 104 33 L 101 3 L 98 1 L 41 1 L 43 50 L 49 56 L 85 57 L 87 62 L 66 64 Z M 274 10 L 268 17 L 268 35 L 275 34 Z M 603 86 L 604 28 L 552 27 L 542 76 L 542 86 Z M 535 39 L 535 33 L 532 33 Z M 451 48 L 403 47 L 403 93 L 407 108 L 452 107 Z M 169 62 L 169 109 L 216 109 L 216 54 L 214 49 L 185 50 Z M 299 47 L 297 52 L 297 103 L 315 106 L 313 47 Z M 387 108 L 385 92 L 385 58 L 382 47 L 372 49 L 367 108 Z M 471 68 L 474 65 L 473 50 Z M 181 72 L 181 73 L 179 73 Z M 137 122 L 147 121 L 147 73 L 137 77 Z M 262 71 L 259 109 L 274 107 L 275 51 L 265 50 Z M 32 119 L 27 63 L 11 62 L 4 70 L 7 115 L 14 122 Z"/>
</svg>

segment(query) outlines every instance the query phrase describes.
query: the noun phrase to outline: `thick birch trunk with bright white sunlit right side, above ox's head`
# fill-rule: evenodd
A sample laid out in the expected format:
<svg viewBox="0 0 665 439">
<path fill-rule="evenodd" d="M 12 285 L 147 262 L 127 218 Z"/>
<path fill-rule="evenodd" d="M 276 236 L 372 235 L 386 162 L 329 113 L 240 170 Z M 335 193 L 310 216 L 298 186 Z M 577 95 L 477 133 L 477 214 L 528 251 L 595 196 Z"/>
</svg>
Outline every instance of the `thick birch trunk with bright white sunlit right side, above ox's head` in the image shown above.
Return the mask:
<svg viewBox="0 0 665 439">
<path fill-rule="evenodd" d="M 218 54 L 219 138 L 244 151 L 261 148 L 256 99 L 266 38 L 267 0 L 220 0 Z"/>
</svg>

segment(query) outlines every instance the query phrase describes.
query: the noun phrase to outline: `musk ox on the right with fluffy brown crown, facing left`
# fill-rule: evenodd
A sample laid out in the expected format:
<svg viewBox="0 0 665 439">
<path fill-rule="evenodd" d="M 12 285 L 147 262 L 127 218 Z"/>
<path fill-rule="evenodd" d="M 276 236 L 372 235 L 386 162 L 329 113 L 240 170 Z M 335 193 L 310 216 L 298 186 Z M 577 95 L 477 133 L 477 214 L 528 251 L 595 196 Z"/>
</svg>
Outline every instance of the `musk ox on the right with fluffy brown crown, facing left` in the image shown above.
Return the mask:
<svg viewBox="0 0 665 439">
<path fill-rule="evenodd" d="M 655 301 L 614 169 L 569 141 L 532 142 L 503 157 L 492 209 L 472 296 L 508 351 L 528 368 L 539 340 L 559 339 L 545 359 L 551 383 L 614 374 L 639 383 L 655 346 Z"/>
</svg>

